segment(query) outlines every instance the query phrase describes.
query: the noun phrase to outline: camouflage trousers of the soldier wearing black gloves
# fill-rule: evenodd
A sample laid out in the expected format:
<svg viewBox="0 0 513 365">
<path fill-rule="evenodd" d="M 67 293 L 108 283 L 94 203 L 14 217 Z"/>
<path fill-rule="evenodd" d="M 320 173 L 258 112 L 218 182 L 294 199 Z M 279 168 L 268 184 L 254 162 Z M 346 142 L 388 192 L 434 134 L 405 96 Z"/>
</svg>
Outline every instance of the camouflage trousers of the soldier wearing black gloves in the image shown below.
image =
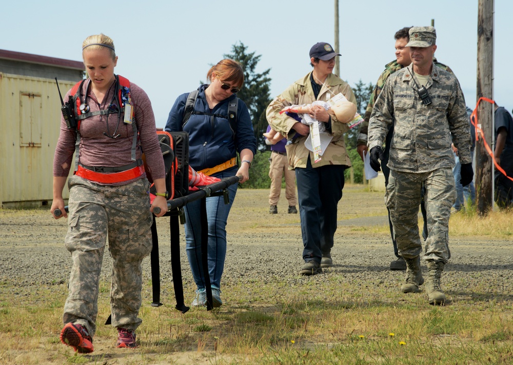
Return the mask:
<svg viewBox="0 0 513 365">
<path fill-rule="evenodd" d="M 385 204 L 396 234 L 399 255 L 417 257 L 422 251 L 419 236 L 419 205 L 422 185 L 427 213 L 425 260 L 447 262 L 449 251 L 450 209 L 456 200 L 454 176 L 450 168 L 424 173 L 390 170 Z"/>
</svg>

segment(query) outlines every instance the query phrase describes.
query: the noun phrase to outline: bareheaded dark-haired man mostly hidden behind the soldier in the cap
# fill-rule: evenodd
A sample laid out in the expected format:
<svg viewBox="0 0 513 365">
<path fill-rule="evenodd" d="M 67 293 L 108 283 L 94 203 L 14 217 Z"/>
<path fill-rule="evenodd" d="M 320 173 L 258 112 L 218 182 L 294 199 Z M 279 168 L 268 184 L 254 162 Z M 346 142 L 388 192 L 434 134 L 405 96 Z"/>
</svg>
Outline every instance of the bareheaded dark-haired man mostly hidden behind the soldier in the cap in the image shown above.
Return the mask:
<svg viewBox="0 0 513 365">
<path fill-rule="evenodd" d="M 378 95 L 380 94 L 381 90 L 383 89 L 383 85 L 385 85 L 386 80 L 388 77 L 393 74 L 396 71 L 401 70 L 402 68 L 408 66 L 411 64 L 411 58 L 410 58 L 410 49 L 409 47 L 406 47 L 406 44 L 410 40 L 410 36 L 408 34 L 408 31 L 411 27 L 404 27 L 396 32 L 394 34 L 394 39 L 396 39 L 396 60 L 393 60 L 392 62 L 385 65 L 385 71 L 383 71 L 378 78 L 378 82 L 376 83 L 376 86 L 374 86 L 374 90 L 370 94 L 369 104 L 367 105 L 367 109 L 365 111 L 364 115 L 364 121 L 359 126 L 358 131 L 358 140 L 357 140 L 357 150 L 360 156 L 363 159 L 363 152 L 368 151 L 367 149 L 367 130 L 369 126 L 369 119 L 370 114 L 372 113 L 372 108 L 374 107 L 374 103 L 376 102 L 376 99 L 378 98 Z M 437 61 L 436 58 L 433 58 L 433 63 L 437 67 L 440 67 L 442 70 L 446 70 L 450 73 L 453 73 L 452 70 Z M 385 151 L 384 151 L 384 159 L 381 161 L 381 169 L 383 170 L 383 175 L 385 176 L 385 186 L 388 184 L 388 176 L 390 175 L 390 169 L 386 166 L 388 163 L 388 155 L 390 151 L 390 139 L 392 138 L 392 132 L 393 128 L 390 128 L 386 138 L 385 138 Z M 366 152 L 367 153 L 367 152 Z M 422 194 L 424 195 L 424 194 Z M 421 200 L 421 212 L 422 217 L 424 219 L 424 228 L 422 231 L 422 236 L 424 239 L 427 237 L 427 218 L 426 218 L 426 209 L 424 207 L 424 199 Z M 387 208 L 388 210 L 388 208 Z M 406 270 L 406 262 L 404 262 L 404 259 L 399 256 L 399 253 L 397 251 L 397 242 L 394 238 L 393 234 L 393 228 L 392 228 L 392 222 L 390 220 L 390 211 L 388 211 L 388 225 L 390 227 L 390 236 L 392 237 L 392 244 L 393 244 L 393 253 L 398 258 L 397 260 L 393 260 L 390 262 L 390 270 Z"/>
</svg>

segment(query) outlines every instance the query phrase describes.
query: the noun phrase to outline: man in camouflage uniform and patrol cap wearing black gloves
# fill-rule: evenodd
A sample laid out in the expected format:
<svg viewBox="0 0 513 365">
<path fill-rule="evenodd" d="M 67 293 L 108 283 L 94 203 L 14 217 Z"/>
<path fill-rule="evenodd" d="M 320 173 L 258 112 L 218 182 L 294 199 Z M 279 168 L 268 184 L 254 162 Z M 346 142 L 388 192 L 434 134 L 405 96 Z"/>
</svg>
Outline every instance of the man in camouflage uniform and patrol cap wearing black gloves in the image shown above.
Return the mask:
<svg viewBox="0 0 513 365">
<path fill-rule="evenodd" d="M 424 283 L 420 267 L 422 245 L 418 229 L 421 187 L 425 187 L 428 236 L 426 292 L 431 304 L 445 303 L 440 277 L 450 258 L 449 216 L 456 199 L 452 143 L 462 163 L 462 185 L 472 180 L 470 128 L 458 80 L 433 64 L 437 46 L 433 27 L 409 30 L 412 64 L 391 75 L 374 105 L 369 123 L 370 161 L 379 171 L 381 146 L 393 125 L 386 205 L 396 234 L 399 254 L 406 261 L 404 293 Z"/>
</svg>

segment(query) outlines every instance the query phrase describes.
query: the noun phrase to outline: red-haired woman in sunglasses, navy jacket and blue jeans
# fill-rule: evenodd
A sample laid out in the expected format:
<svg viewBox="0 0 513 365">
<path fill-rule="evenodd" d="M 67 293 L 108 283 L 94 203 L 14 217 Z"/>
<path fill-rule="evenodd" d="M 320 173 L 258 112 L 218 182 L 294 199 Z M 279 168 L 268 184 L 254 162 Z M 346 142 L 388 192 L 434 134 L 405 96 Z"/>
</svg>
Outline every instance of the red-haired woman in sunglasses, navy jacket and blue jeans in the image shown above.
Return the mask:
<svg viewBox="0 0 513 365">
<path fill-rule="evenodd" d="M 206 175 L 226 178 L 241 175 L 239 181 L 249 179 L 249 168 L 257 151 L 257 139 L 253 133 L 248 108 L 238 100 L 235 123 L 228 117 L 229 104 L 235 104 L 237 93 L 244 84 L 242 65 L 233 59 L 222 59 L 207 73 L 210 84 L 198 88 L 193 111 L 184 123 L 185 106 L 189 93 L 180 95 L 169 113 L 165 130 L 189 133 L 189 165 Z M 240 154 L 240 166 L 236 164 Z M 228 187 L 229 202 L 223 196 L 207 198 L 208 219 L 208 274 L 212 289 L 212 306 L 220 307 L 221 276 L 226 257 L 226 222 L 235 198 L 237 185 Z M 186 251 L 192 276 L 196 283 L 196 298 L 193 307 L 206 303 L 205 276 L 202 266 L 200 200 L 185 206 Z"/>
</svg>

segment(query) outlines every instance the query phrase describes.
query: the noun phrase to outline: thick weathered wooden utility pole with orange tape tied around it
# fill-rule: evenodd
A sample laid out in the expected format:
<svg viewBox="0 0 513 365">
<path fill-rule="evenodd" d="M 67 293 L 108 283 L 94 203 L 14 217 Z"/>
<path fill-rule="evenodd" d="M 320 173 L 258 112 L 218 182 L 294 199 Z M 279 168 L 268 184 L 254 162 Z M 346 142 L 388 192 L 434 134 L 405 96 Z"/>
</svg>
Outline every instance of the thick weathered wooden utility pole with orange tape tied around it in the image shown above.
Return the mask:
<svg viewBox="0 0 513 365">
<path fill-rule="evenodd" d="M 478 69 L 477 99 L 494 99 L 494 0 L 479 0 L 478 9 Z M 479 103 L 478 127 L 491 148 L 494 137 L 492 113 L 494 106 Z M 485 215 L 492 207 L 493 178 L 491 157 L 486 152 L 482 138 L 476 143 L 476 207 L 479 215 Z"/>
</svg>

